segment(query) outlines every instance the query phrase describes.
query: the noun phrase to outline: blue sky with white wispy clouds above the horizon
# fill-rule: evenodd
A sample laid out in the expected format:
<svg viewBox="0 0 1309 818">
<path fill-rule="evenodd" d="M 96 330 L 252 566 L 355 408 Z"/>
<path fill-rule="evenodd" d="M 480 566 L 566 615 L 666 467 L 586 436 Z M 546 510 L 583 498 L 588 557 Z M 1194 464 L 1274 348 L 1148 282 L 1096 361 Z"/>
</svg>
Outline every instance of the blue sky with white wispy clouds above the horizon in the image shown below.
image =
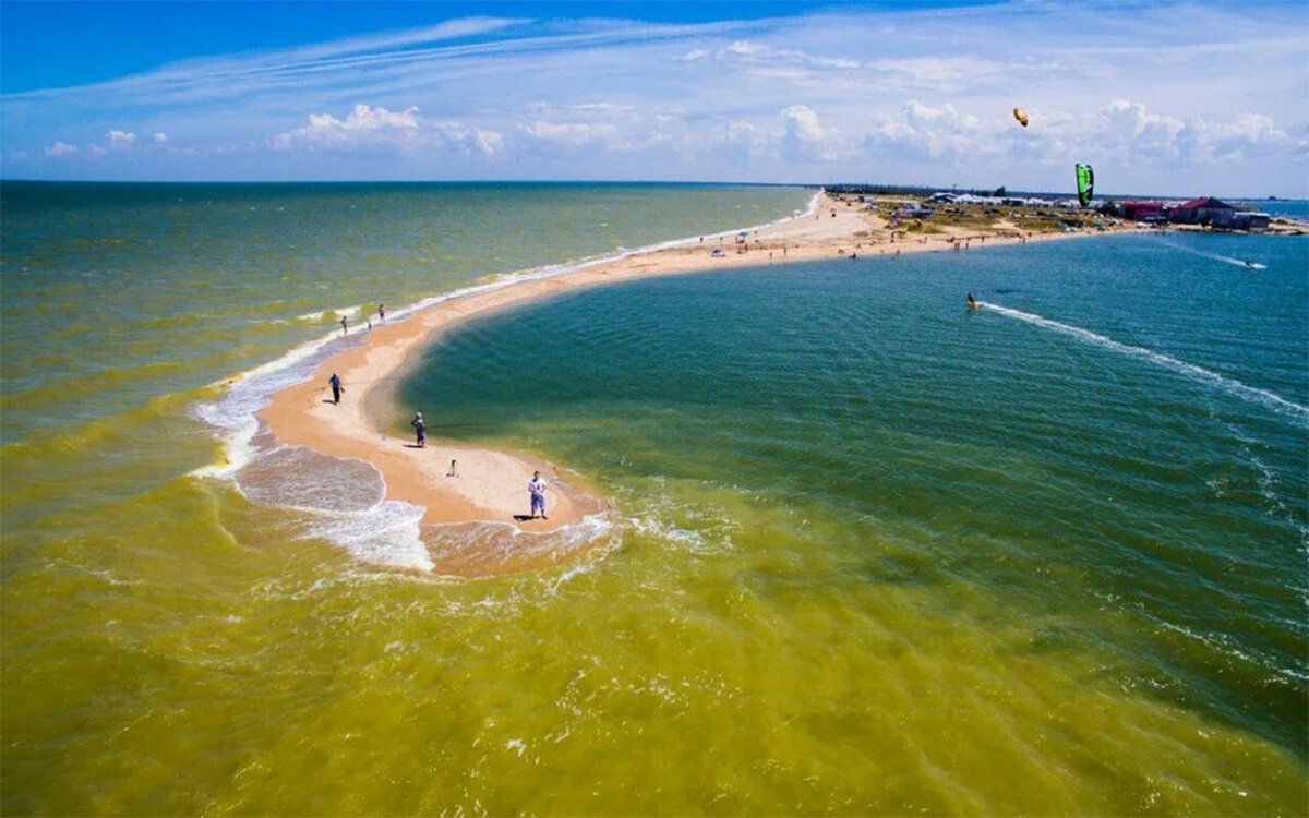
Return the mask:
<svg viewBox="0 0 1309 818">
<path fill-rule="evenodd" d="M 5 179 L 1063 191 L 1076 162 L 1309 196 L 1309 4 L 0 3 Z"/>
</svg>

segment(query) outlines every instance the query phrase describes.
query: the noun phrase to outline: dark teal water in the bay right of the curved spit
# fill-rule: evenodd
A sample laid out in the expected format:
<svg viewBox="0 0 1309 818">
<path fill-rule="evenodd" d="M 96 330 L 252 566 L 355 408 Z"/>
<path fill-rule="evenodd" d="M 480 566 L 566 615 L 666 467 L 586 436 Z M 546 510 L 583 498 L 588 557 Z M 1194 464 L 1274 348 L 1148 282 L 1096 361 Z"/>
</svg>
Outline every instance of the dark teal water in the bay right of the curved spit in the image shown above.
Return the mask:
<svg viewBox="0 0 1309 818">
<path fill-rule="evenodd" d="M 403 395 L 601 479 L 694 543 L 670 560 L 805 516 L 812 564 L 755 584 L 1004 609 L 1115 695 L 1302 763 L 1306 255 L 1102 237 L 640 281 L 467 327 Z"/>
</svg>

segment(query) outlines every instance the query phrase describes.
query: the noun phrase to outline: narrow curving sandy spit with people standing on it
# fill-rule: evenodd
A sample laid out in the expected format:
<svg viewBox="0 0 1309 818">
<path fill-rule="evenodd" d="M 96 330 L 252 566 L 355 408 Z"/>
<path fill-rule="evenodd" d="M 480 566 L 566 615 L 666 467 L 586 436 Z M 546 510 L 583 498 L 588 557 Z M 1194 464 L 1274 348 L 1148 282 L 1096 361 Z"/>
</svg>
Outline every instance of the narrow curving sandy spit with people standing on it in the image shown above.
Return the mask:
<svg viewBox="0 0 1309 818">
<path fill-rule="evenodd" d="M 441 407 L 401 407 L 395 386 L 416 351 L 437 343 L 463 322 L 555 293 L 651 276 L 838 258 L 857 262 L 907 253 L 965 251 L 1100 233 L 1152 232 L 1135 222 L 1101 220 L 1092 213 L 1077 215 L 1075 224 L 1085 226 L 1073 228 L 1067 224 L 1068 213 L 1026 217 L 1013 212 L 1021 208 L 995 212 L 941 208 L 940 217 L 923 220 L 908 215 L 916 207 L 920 199 L 906 196 L 821 192 L 809 212 L 755 230 L 691 238 L 677 246 L 441 301 L 403 318 L 355 330 L 367 334 L 363 343 L 325 360 L 308 381 L 276 393 L 258 416 L 281 444 L 370 463 L 382 475 L 386 499 L 424 509 L 424 526 L 501 524 L 504 537 L 496 542 L 493 558 L 425 542 L 433 573 L 475 577 L 530 571 L 575 558 L 598 539 L 576 542 L 577 538 L 563 537 L 565 546 L 541 548 L 537 542 L 543 535 L 603 516 L 611 507 L 581 478 L 539 457 L 461 445 L 440 437 L 429 437 L 427 446 L 420 449 L 408 436 L 397 435 L 402 416 L 412 418 L 415 411 L 421 411 L 435 431 L 440 429 Z M 959 293 L 961 309 L 963 298 L 965 293 Z M 332 373 L 346 387 L 339 404 L 331 402 L 327 385 Z M 458 461 L 458 476 L 452 476 L 452 459 Z M 534 471 L 541 471 L 550 487 L 548 520 L 522 518 L 529 513 L 528 482 Z"/>
</svg>

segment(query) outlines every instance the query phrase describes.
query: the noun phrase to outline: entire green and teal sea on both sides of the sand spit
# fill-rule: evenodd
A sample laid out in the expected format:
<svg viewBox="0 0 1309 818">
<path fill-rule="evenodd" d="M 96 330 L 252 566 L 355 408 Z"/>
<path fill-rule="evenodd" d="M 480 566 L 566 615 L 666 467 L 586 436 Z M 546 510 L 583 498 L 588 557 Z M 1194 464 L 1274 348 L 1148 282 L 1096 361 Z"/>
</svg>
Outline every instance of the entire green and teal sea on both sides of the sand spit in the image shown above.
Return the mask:
<svg viewBox="0 0 1309 818">
<path fill-rule="evenodd" d="M 254 420 L 378 304 L 813 195 L 0 186 L 4 814 L 1305 814 L 1309 237 L 860 253 L 462 325 L 397 402 L 435 457 L 610 499 L 548 569 L 427 571 L 490 534 Z"/>
</svg>

